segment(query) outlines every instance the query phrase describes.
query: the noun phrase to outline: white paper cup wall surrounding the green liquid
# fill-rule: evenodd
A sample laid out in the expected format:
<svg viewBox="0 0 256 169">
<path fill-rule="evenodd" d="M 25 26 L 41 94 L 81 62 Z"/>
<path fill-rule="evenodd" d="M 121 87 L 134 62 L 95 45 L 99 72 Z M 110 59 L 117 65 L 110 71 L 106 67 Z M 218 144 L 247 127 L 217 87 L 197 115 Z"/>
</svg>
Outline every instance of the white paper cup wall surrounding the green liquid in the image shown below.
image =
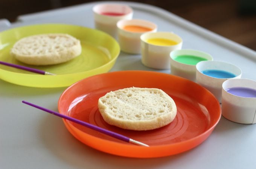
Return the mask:
<svg viewBox="0 0 256 169">
<path fill-rule="evenodd" d="M 191 81 L 196 81 L 196 64 L 185 64 L 175 60 L 181 55 L 192 55 L 196 57 L 201 57 L 206 60 L 213 60 L 210 54 L 203 51 L 197 51 L 192 49 L 180 49 L 175 50 L 170 53 L 171 57 L 171 74 L 176 76 L 181 76 L 183 78 L 189 79 Z"/>
</svg>

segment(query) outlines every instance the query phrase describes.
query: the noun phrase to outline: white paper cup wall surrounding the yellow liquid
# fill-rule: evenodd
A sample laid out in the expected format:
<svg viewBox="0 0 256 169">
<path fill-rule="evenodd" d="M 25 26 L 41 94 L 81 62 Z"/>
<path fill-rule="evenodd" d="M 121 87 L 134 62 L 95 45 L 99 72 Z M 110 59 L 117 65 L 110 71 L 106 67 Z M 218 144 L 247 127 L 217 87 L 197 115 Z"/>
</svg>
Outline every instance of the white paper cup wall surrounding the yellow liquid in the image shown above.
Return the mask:
<svg viewBox="0 0 256 169">
<path fill-rule="evenodd" d="M 148 39 L 154 38 L 172 40 L 177 44 L 162 46 L 147 42 Z M 140 36 L 140 40 L 142 64 L 154 69 L 170 69 L 170 52 L 175 49 L 181 49 L 183 42 L 180 36 L 172 32 L 144 33 Z"/>
</svg>

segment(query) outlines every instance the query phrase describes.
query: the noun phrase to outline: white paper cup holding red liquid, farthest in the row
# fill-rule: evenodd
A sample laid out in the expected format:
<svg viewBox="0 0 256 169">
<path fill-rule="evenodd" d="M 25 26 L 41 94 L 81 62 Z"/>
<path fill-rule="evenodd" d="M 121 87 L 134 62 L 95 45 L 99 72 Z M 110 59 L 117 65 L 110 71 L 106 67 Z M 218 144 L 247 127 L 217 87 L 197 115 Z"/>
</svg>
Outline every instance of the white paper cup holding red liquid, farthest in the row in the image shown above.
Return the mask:
<svg viewBox="0 0 256 169">
<path fill-rule="evenodd" d="M 124 4 L 98 4 L 93 7 L 95 28 L 117 38 L 116 23 L 133 18 L 133 9 Z"/>
</svg>

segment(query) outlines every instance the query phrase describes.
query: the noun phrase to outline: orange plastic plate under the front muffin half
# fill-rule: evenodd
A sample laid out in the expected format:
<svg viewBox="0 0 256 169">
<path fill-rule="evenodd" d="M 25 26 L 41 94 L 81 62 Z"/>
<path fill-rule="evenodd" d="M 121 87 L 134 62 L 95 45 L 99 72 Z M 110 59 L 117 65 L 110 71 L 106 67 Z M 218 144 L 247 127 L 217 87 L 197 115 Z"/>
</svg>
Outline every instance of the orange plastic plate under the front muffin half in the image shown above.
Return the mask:
<svg viewBox="0 0 256 169">
<path fill-rule="evenodd" d="M 98 110 L 98 99 L 109 91 L 127 87 L 160 88 L 177 105 L 177 116 L 160 129 L 132 131 L 107 124 Z M 218 100 L 197 83 L 166 73 L 120 71 L 91 76 L 71 85 L 58 102 L 61 114 L 128 136 L 148 144 L 142 147 L 120 141 L 79 124 L 63 120 L 84 144 L 125 157 L 152 158 L 178 154 L 201 144 L 221 117 Z"/>
</svg>

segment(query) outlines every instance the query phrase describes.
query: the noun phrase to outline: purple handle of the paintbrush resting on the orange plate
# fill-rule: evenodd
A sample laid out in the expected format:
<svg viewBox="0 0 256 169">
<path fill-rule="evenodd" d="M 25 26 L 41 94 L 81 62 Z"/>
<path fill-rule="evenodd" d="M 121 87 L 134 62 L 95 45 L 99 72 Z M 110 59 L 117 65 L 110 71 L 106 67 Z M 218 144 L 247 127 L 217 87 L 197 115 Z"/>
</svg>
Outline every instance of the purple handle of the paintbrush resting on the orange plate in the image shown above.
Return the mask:
<svg viewBox="0 0 256 169">
<path fill-rule="evenodd" d="M 88 128 L 90 128 L 90 129 L 93 129 L 93 130 L 96 130 L 96 131 L 98 131 L 98 132 L 104 133 L 104 134 L 106 134 L 106 135 L 112 136 L 112 137 L 114 137 L 114 138 L 120 139 L 120 140 L 122 140 L 122 141 L 130 142 L 130 138 L 128 138 L 128 137 L 126 137 L 126 136 L 123 136 L 123 135 L 120 135 L 120 134 L 118 134 L 118 133 L 111 132 L 111 131 L 106 130 L 106 129 L 103 129 L 103 128 L 101 128 L 101 127 L 94 126 L 94 125 L 92 125 L 92 124 L 90 124 L 90 123 L 86 123 L 86 122 L 84 122 L 84 121 L 81 121 L 81 120 L 78 120 L 78 119 L 75 119 L 75 118 L 72 118 L 72 117 L 69 117 L 69 116 L 60 114 L 60 113 L 58 113 L 58 112 L 55 112 L 55 111 L 52 111 L 52 110 L 49 110 L 49 109 L 40 107 L 40 106 L 38 106 L 38 105 L 34 105 L 34 104 L 29 103 L 29 102 L 26 102 L 26 101 L 24 101 L 24 100 L 22 101 L 22 103 L 25 103 L 25 104 L 27 104 L 27 105 L 33 106 L 33 107 L 38 108 L 38 109 L 41 109 L 41 110 L 43 110 L 43 111 L 46 111 L 46 112 L 51 113 L 51 114 L 53 114 L 53 115 L 56 115 L 56 116 L 58 116 L 58 117 L 65 118 L 65 119 L 67 119 L 67 120 L 69 120 L 69 121 L 73 121 L 73 122 L 75 122 L 75 123 L 81 124 L 82 126 L 88 127 Z"/>
</svg>

